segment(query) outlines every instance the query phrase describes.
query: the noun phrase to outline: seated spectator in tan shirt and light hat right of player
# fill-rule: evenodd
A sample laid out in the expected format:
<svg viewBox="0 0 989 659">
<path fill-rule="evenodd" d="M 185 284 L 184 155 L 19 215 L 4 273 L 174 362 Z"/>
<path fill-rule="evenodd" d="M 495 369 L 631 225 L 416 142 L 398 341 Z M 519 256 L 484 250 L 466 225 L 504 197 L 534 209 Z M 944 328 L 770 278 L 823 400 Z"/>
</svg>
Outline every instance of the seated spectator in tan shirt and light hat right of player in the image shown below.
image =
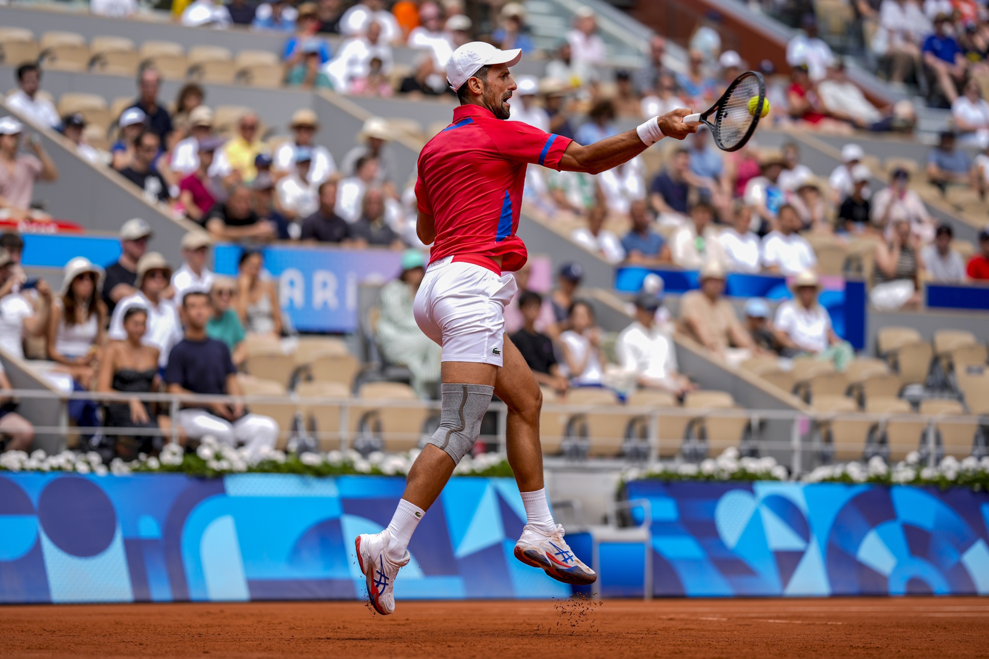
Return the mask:
<svg viewBox="0 0 989 659">
<path fill-rule="evenodd" d="M 727 273 L 718 263 L 700 269 L 700 288 L 680 298 L 680 331 L 729 364 L 753 356 L 756 346 L 724 297 Z"/>
</svg>

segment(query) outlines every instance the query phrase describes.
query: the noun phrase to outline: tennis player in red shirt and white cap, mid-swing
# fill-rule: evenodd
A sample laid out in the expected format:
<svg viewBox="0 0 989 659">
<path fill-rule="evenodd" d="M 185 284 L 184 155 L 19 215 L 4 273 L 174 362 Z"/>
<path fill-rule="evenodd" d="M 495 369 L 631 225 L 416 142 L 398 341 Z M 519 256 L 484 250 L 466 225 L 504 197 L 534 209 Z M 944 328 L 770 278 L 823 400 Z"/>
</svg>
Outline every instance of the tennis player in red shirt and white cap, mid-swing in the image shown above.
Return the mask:
<svg viewBox="0 0 989 659">
<path fill-rule="evenodd" d="M 564 540 L 543 488 L 539 445 L 542 394 L 518 349 L 504 336 L 502 312 L 515 293 L 511 275 L 525 264 L 515 235 L 527 163 L 597 174 L 620 165 L 664 136 L 683 139 L 689 110 L 649 120 L 635 130 L 582 146 L 520 122 L 506 122 L 515 83 L 508 67 L 521 50 L 466 43 L 446 67 L 460 107 L 453 124 L 419 154 L 416 231 L 433 243 L 415 295 L 415 322 L 443 348 L 440 427 L 416 458 L 392 523 L 380 534 L 358 535 L 357 556 L 368 597 L 380 614 L 395 611 L 395 578 L 408 563 L 408 541 L 454 467 L 470 453 L 492 394 L 508 407 L 508 463 L 525 505 L 526 525 L 515 557 L 559 581 L 597 579 Z"/>
</svg>

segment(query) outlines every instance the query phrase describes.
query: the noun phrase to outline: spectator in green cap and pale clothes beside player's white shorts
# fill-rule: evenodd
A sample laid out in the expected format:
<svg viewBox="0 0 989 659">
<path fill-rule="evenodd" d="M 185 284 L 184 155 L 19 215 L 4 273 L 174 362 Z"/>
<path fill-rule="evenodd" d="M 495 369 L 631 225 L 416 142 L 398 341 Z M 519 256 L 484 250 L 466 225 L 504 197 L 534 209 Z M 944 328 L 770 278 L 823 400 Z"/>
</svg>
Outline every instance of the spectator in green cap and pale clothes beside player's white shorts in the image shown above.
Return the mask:
<svg viewBox="0 0 989 659">
<path fill-rule="evenodd" d="M 412 313 L 412 302 L 424 276 L 422 253 L 405 250 L 402 274 L 381 288 L 375 334 L 384 358 L 412 372 L 412 388 L 421 398 L 435 393 L 440 374 L 440 348 L 422 333 Z"/>
</svg>

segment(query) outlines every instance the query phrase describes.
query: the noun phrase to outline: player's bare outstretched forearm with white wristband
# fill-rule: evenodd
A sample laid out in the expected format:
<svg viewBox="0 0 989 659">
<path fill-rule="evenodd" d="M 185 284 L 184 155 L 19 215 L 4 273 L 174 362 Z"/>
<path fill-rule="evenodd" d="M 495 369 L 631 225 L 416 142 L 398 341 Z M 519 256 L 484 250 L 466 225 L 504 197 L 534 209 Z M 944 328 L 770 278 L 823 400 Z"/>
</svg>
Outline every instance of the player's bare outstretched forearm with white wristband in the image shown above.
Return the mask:
<svg viewBox="0 0 989 659">
<path fill-rule="evenodd" d="M 687 134 L 697 132 L 697 126 L 683 123 L 683 118 L 691 113 L 690 110 L 680 108 L 663 117 L 654 117 L 635 130 L 606 137 L 593 144 L 582 146 L 571 142 L 560 158 L 560 169 L 599 174 L 628 162 L 664 136 L 683 139 Z M 643 132 L 646 134 L 643 135 Z M 644 139 L 652 141 L 647 143 Z"/>
</svg>

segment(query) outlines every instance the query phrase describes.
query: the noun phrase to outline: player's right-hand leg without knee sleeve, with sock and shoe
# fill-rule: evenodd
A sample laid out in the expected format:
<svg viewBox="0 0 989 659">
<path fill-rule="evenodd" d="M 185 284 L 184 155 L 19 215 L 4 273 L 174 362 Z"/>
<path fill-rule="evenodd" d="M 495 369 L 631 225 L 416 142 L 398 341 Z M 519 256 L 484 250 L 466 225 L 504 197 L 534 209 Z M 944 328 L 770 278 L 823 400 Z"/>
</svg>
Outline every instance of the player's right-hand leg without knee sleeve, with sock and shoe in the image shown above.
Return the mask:
<svg viewBox="0 0 989 659">
<path fill-rule="evenodd" d="M 522 355 L 507 337 L 504 366 L 497 373 L 494 391 L 508 407 L 508 463 L 515 473 L 526 524 L 515 543 L 515 557 L 541 568 L 557 581 L 587 585 L 597 575 L 570 549 L 562 525 L 550 513 L 543 486 L 543 452 L 539 443 L 542 392 Z"/>
</svg>

